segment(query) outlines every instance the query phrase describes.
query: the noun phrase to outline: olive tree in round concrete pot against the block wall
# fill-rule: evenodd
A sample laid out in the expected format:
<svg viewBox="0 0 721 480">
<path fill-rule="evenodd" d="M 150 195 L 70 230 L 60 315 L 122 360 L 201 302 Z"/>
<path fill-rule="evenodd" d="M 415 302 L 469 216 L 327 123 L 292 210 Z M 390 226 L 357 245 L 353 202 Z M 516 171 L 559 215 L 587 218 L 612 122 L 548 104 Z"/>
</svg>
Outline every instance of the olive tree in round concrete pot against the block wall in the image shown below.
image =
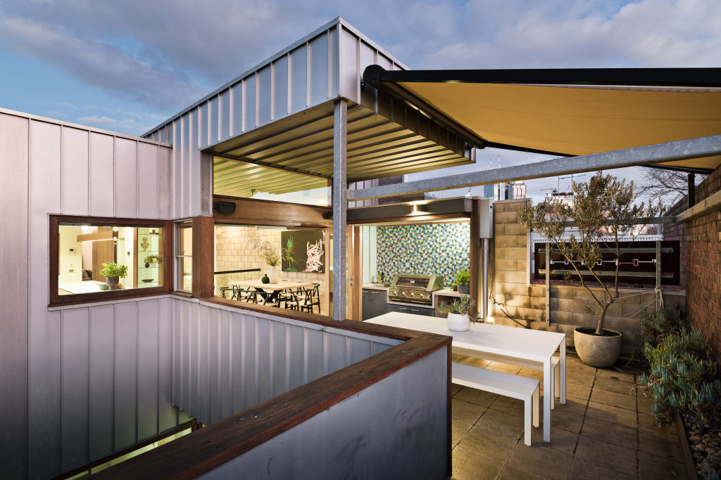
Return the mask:
<svg viewBox="0 0 721 480">
<path fill-rule="evenodd" d="M 548 239 L 570 266 L 571 272 L 565 274 L 565 281 L 582 286 L 598 307 L 596 327 L 577 327 L 573 342 L 584 363 L 608 367 L 618 359 L 622 343 L 620 332 L 603 328 L 609 307 L 622 298 L 619 266 L 628 245 L 622 248 L 619 238 L 633 242 L 641 227 L 658 214 L 660 206 L 637 203 L 633 182 L 627 184 L 601 172 L 588 184 L 573 182 L 572 189 L 572 204 L 554 198 L 535 207 L 528 205 L 521 209 L 521 222 Z M 567 230 L 569 222 L 575 222 L 571 230 Z M 602 246 L 611 252 L 616 264 L 610 281 L 604 280 L 597 268 Z M 598 284 L 598 288 L 591 288 L 589 282 Z M 593 309 L 588 307 L 588 313 L 593 314 Z"/>
</svg>

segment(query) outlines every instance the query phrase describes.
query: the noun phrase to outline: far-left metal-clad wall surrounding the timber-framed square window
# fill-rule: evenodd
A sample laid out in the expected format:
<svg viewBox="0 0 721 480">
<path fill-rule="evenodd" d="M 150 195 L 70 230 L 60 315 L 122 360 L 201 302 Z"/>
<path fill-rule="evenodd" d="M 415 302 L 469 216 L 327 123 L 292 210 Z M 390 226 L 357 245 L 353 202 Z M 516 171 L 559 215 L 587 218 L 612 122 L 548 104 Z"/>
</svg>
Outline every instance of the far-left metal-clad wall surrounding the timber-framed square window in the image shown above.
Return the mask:
<svg viewBox="0 0 721 480">
<path fill-rule="evenodd" d="M 11 225 L 27 225 L 3 232 L 27 232 L 25 242 L 1 244 L 0 337 L 19 345 L 0 354 L 16 366 L 1 383 L 27 390 L 4 404 L 0 451 L 12 452 L 8 477 L 46 478 L 177 425 L 169 385 L 159 384 L 172 359 L 169 342 L 163 356 L 157 343 L 169 335 L 159 330 L 169 300 L 48 309 L 48 214 L 169 218 L 171 148 L 4 109 L 0 125 L 2 171 L 14 185 L 4 208 L 24 218 Z M 12 271 L 26 276 L 24 293 L 7 295 Z M 139 409 L 141 397 L 153 396 L 151 409 Z"/>
</svg>

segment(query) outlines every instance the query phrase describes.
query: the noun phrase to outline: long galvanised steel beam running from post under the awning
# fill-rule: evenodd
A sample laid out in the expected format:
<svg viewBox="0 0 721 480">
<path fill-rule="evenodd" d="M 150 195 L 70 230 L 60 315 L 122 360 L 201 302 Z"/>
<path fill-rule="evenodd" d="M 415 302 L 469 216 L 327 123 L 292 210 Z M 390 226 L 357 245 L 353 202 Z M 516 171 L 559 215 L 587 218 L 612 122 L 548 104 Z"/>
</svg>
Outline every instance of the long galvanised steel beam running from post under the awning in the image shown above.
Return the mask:
<svg viewBox="0 0 721 480">
<path fill-rule="evenodd" d="M 405 184 L 374 186 L 369 189 L 349 191 L 348 200 L 358 201 L 386 196 L 420 194 L 426 191 L 460 189 L 507 181 L 527 180 L 529 178 L 544 178 L 570 173 L 651 165 L 653 163 L 689 160 L 714 155 L 721 155 L 721 135 L 613 150 L 611 152 L 594 153 L 593 155 L 554 158 L 553 160 L 497 168 L 495 170 L 410 181 Z"/>
</svg>

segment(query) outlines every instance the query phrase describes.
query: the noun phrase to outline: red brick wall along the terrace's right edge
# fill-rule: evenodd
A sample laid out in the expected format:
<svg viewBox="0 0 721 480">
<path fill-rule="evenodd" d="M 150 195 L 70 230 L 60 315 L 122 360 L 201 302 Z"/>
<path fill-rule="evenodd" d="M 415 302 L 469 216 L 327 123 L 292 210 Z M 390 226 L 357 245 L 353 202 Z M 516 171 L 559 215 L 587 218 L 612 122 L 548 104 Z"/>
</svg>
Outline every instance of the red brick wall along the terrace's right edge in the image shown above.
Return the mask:
<svg viewBox="0 0 721 480">
<path fill-rule="evenodd" d="M 696 186 L 696 201 L 717 191 L 721 191 L 721 167 Z M 688 200 L 683 199 L 668 214 L 687 208 Z M 681 240 L 687 317 L 694 328 L 704 331 L 717 360 L 721 360 L 721 211 L 707 212 L 686 224 L 668 225 L 663 236 Z"/>
</svg>

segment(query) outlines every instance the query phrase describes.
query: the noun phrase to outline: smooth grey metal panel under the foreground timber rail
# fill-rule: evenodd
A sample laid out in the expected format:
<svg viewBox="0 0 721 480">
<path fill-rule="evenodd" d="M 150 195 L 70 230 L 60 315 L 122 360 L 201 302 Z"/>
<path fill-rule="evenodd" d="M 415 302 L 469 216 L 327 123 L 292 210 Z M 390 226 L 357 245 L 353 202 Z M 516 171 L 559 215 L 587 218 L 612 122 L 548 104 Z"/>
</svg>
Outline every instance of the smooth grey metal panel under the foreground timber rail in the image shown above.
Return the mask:
<svg viewBox="0 0 721 480">
<path fill-rule="evenodd" d="M 446 478 L 447 355 L 435 350 L 201 478 Z"/>
</svg>

